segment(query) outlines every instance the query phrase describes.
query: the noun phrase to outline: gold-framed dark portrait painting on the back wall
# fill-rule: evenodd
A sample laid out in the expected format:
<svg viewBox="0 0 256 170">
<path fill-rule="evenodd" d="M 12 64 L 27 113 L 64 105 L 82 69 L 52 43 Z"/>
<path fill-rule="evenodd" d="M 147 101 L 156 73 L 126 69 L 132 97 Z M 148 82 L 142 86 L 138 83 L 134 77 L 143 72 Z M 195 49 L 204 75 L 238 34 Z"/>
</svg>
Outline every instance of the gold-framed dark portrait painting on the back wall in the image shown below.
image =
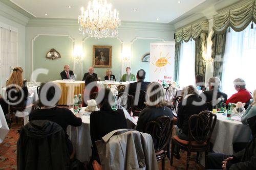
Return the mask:
<svg viewBox="0 0 256 170">
<path fill-rule="evenodd" d="M 111 68 L 112 46 L 93 45 L 93 67 Z"/>
</svg>

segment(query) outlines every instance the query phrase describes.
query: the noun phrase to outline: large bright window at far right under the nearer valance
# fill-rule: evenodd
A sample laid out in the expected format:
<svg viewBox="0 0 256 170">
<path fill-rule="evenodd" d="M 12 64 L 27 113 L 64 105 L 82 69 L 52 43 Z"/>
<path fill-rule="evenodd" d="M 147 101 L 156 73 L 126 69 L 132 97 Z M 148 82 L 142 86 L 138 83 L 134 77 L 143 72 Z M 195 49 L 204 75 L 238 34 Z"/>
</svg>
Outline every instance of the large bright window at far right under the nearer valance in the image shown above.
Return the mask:
<svg viewBox="0 0 256 170">
<path fill-rule="evenodd" d="M 233 80 L 242 78 L 249 91 L 256 89 L 256 28 L 250 25 L 242 32 L 227 33 L 223 61 L 222 90 L 228 96 L 236 93 Z"/>
</svg>

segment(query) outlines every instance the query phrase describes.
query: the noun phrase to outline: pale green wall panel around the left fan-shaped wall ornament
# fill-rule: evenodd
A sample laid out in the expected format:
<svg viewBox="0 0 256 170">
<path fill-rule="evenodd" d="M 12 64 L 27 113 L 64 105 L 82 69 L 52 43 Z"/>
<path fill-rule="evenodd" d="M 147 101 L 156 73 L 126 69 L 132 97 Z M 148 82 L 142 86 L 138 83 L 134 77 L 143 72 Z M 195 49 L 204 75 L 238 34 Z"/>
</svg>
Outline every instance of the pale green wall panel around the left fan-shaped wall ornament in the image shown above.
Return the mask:
<svg viewBox="0 0 256 170">
<path fill-rule="evenodd" d="M 61 55 L 56 60 L 46 59 L 46 54 L 54 48 Z M 48 75 L 40 74 L 37 77 L 38 82 L 47 82 L 61 80 L 60 72 L 65 64 L 70 65 L 73 69 L 73 41 L 67 36 L 47 36 L 40 35 L 34 41 L 34 70 L 37 68 L 46 68 L 49 70 Z"/>
</svg>

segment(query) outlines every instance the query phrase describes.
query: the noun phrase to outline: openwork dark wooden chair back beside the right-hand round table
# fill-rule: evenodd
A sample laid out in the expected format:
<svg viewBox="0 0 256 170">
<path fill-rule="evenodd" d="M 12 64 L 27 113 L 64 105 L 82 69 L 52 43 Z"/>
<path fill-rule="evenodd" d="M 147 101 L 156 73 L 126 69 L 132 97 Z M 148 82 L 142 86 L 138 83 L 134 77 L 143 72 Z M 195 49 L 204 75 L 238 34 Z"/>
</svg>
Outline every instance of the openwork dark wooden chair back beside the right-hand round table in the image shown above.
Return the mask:
<svg viewBox="0 0 256 170">
<path fill-rule="evenodd" d="M 212 112 L 205 110 L 199 114 L 192 115 L 188 120 L 188 138 L 191 147 L 191 141 L 200 144 L 209 143 L 212 131 L 216 124 L 217 116 Z"/>
</svg>

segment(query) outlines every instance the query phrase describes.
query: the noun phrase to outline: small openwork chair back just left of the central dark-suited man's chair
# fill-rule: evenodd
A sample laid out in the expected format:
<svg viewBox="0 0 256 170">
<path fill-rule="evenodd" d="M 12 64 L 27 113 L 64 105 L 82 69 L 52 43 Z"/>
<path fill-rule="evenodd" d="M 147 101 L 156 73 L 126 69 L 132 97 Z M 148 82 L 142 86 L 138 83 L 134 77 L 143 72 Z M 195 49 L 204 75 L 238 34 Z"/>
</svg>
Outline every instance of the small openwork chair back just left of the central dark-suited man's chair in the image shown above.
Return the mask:
<svg viewBox="0 0 256 170">
<path fill-rule="evenodd" d="M 117 103 L 122 105 L 122 107 L 127 111 L 130 111 L 133 107 L 134 97 L 126 92 L 119 93 L 117 97 Z"/>
</svg>

